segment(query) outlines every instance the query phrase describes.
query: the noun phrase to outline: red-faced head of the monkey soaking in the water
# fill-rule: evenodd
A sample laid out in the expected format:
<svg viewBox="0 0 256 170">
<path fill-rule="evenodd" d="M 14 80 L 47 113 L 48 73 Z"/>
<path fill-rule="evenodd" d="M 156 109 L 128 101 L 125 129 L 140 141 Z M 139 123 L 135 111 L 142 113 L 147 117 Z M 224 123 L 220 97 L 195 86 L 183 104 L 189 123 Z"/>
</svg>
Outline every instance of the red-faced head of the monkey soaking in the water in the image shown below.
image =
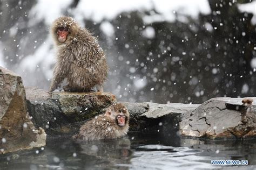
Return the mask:
<svg viewBox="0 0 256 170">
<path fill-rule="evenodd" d="M 130 115 L 122 103 L 114 103 L 105 112 L 105 116 L 110 117 L 118 126 L 124 127 L 129 124 Z"/>
</svg>

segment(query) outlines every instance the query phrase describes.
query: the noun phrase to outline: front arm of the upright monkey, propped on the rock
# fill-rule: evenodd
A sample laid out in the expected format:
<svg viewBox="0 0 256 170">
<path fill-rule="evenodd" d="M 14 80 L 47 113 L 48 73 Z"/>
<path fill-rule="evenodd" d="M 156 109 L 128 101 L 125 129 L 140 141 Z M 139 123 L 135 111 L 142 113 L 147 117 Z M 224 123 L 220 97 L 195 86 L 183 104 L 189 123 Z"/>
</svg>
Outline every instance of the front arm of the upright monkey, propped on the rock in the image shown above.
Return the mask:
<svg viewBox="0 0 256 170">
<path fill-rule="evenodd" d="M 53 78 L 51 81 L 51 86 L 49 91 L 52 92 L 53 90 L 58 88 L 58 85 L 65 79 L 66 70 L 63 67 L 60 67 L 58 63 L 56 63 L 54 70 L 53 70 Z"/>
</svg>

